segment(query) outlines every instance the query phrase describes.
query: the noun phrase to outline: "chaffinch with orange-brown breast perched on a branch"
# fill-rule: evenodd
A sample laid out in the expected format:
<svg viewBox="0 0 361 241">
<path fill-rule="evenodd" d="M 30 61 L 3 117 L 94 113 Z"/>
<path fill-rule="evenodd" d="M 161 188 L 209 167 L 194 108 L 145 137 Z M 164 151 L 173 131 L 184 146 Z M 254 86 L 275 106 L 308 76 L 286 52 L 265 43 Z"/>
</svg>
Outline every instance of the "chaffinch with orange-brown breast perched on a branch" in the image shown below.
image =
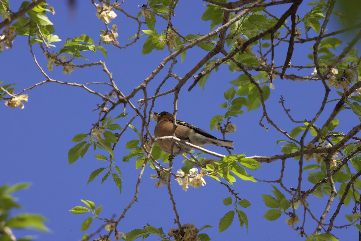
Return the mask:
<svg viewBox="0 0 361 241">
<path fill-rule="evenodd" d="M 157 124 L 154 128 L 154 135 L 155 137 L 164 137 L 172 135 L 173 130 L 173 121 L 172 121 L 172 114 L 166 111 L 153 114 L 157 118 Z M 201 130 L 187 122 L 177 120 L 177 129 L 175 129 L 175 136 L 183 141 L 189 142 L 193 145 L 203 146 L 203 145 L 215 145 L 215 146 L 222 146 L 229 149 L 234 149 L 233 141 L 225 141 L 221 139 L 217 139 L 213 135 Z M 158 145 L 160 149 L 171 154 L 171 146 L 173 144 L 172 140 L 158 140 Z M 173 151 L 174 155 L 179 155 L 184 152 L 184 150 L 179 147 L 182 146 L 183 149 L 190 151 L 192 148 L 187 145 L 175 144 Z"/>
</svg>

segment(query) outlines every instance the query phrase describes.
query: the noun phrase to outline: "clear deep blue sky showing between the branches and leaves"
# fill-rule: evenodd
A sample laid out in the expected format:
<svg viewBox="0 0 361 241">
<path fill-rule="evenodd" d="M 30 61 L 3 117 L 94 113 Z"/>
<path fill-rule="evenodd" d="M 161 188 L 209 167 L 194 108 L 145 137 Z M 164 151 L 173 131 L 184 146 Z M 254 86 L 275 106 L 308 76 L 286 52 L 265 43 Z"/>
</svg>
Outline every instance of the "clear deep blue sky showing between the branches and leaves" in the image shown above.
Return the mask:
<svg viewBox="0 0 361 241">
<path fill-rule="evenodd" d="M 57 48 L 53 48 L 51 51 L 58 51 L 64 40 L 81 34 L 86 34 L 93 38 L 95 42 L 98 42 L 99 30 L 104 29 L 104 25 L 95 16 L 96 9 L 90 2 L 78 1 L 72 16 L 69 14 L 65 1 L 47 1 L 56 11 L 54 16 L 48 14 L 49 19 L 54 23 L 55 34 L 63 40 L 63 42 L 55 43 Z M 16 10 L 19 3 L 10 1 L 10 8 Z M 183 35 L 208 33 L 209 22 L 200 20 L 205 10 L 204 3 L 203 1 L 180 1 L 179 7 L 176 9 L 176 16 L 172 19 L 173 25 L 181 33 L 184 33 Z M 304 9 L 309 8 L 306 3 L 305 1 L 300 6 L 300 17 L 303 16 Z M 122 8 L 136 16 L 140 11 L 137 6 L 142 4 L 145 4 L 145 1 L 125 1 Z M 280 10 L 283 9 L 283 7 L 273 8 L 272 13 L 279 14 Z M 123 46 L 127 43 L 126 39 L 136 33 L 137 24 L 121 13 L 117 14 L 118 17 L 112 23 L 118 25 L 118 41 Z M 159 30 L 163 30 L 166 27 L 166 22 L 158 19 L 156 26 Z M 335 30 L 339 27 L 336 22 L 331 26 L 334 26 Z M 145 29 L 145 27 L 143 25 L 142 29 Z M 300 24 L 300 27 L 303 27 L 303 24 Z M 304 30 L 301 31 L 304 33 Z M 143 36 L 136 44 L 120 51 L 115 47 L 106 46 L 108 50 L 106 59 L 100 52 L 96 54 L 88 52 L 86 57 L 90 62 L 105 61 L 109 71 L 113 72 L 117 85 L 123 93 L 128 94 L 135 86 L 142 83 L 144 78 L 149 76 L 162 59 L 168 56 L 166 50 L 141 55 L 144 41 L 145 37 Z M 107 76 L 103 73 L 101 67 L 97 66 L 75 69 L 69 76 L 62 73 L 61 67 L 55 67 L 52 72 L 49 72 L 46 69 L 47 60 L 38 46 L 34 46 L 34 50 L 39 64 L 53 79 L 78 83 L 107 80 Z M 297 45 L 291 63 L 293 65 L 311 63 L 307 58 L 309 52 L 311 52 L 310 46 Z M 199 48 L 187 51 L 186 60 L 181 64 L 179 58 L 174 73 L 181 77 L 184 76 L 205 54 L 206 52 Z M 283 64 L 285 55 L 286 49 L 284 47 L 278 48 L 276 52 L 277 65 Z M 26 37 L 18 36 L 13 43 L 13 48 L 3 51 L 0 59 L 0 80 L 5 83 L 17 83 L 17 90 L 25 89 L 34 83 L 45 80 L 34 64 L 29 46 L 27 46 Z M 74 63 L 83 64 L 88 62 L 75 60 Z M 149 84 L 149 93 L 154 92 L 157 88 L 167 74 L 168 67 L 169 64 Z M 311 72 L 312 70 L 307 69 L 300 70 L 297 74 L 309 75 Z M 213 116 L 224 113 L 224 109 L 218 108 L 220 104 L 225 102 L 223 92 L 231 87 L 228 82 L 236 79 L 238 74 L 232 74 L 228 71 L 227 66 L 221 66 L 217 74 L 212 73 L 209 77 L 204 91 L 196 86 L 191 92 L 188 92 L 187 89 L 192 84 L 192 79 L 190 79 L 179 94 L 177 118 L 210 132 L 209 121 Z M 170 80 L 162 87 L 161 91 L 171 89 L 174 85 L 176 85 L 176 81 Z M 289 132 L 297 125 L 287 118 L 282 106 L 278 103 L 280 95 L 283 95 L 286 100 L 286 107 L 291 109 L 291 115 L 297 120 L 313 118 L 324 95 L 324 88 L 319 81 L 295 82 L 278 78 L 274 81 L 274 86 L 275 90 L 271 90 L 270 98 L 266 101 L 266 107 L 270 118 L 281 126 L 281 129 Z M 91 87 L 102 93 L 109 92 L 109 89 L 103 86 Z M 29 95 L 29 102 L 25 103 L 24 109 L 10 109 L 4 105 L 0 106 L 0 123 L 3 126 L 0 139 L 2 154 L 0 185 L 31 182 L 32 186 L 28 190 L 14 194 L 23 205 L 23 209 L 18 212 L 44 215 L 48 219 L 47 226 L 51 229 L 51 233 L 19 231 L 15 234 L 18 237 L 25 234 L 36 235 L 37 240 L 40 241 L 78 240 L 83 236 L 83 233 L 80 232 L 81 223 L 89 215 L 74 215 L 68 210 L 74 206 L 83 206 L 80 199 L 91 200 L 97 206 L 102 205 L 103 211 L 100 216 L 111 218 L 112 215 L 118 217 L 133 197 L 139 169 L 135 170 L 135 159 L 130 160 L 129 163 L 123 163 L 122 157 L 129 154 L 129 150 L 124 148 L 126 142 L 136 139 L 137 135 L 131 129 L 128 129 L 120 139 L 114 152 L 116 164 L 121 168 L 125 180 L 122 195 L 119 195 L 118 188 L 111 178 L 100 185 L 101 177 L 97 177 L 95 181 L 86 186 L 90 173 L 105 166 L 102 163 L 103 161 L 96 160 L 93 155 L 107 155 L 107 153 L 101 150 L 94 153 L 90 151 L 83 159 L 79 159 L 69 166 L 68 150 L 75 145 L 74 142 L 71 142 L 73 136 L 79 133 L 88 133 L 92 128 L 91 124 L 96 122 L 98 113 L 92 112 L 92 110 L 96 108 L 96 104 L 101 103 L 101 100 L 83 89 L 55 83 L 47 83 L 36 87 L 28 91 L 27 94 Z M 335 91 L 331 93 L 331 96 L 334 99 L 337 98 Z M 135 104 L 136 100 L 140 98 L 142 98 L 142 95 L 137 94 L 132 99 L 132 102 Z M 335 103 L 331 102 L 326 105 L 325 111 L 319 121 L 316 122 L 316 125 L 323 124 L 322 121 L 330 114 Z M 173 95 L 157 99 L 153 110 L 156 112 L 171 112 L 173 110 Z M 120 126 L 124 126 L 133 115 L 130 108 L 127 111 L 130 114 L 117 122 Z M 112 116 L 115 117 L 121 112 L 122 106 L 118 106 Z M 266 132 L 258 124 L 261 116 L 261 109 L 256 109 L 248 113 L 245 112 L 238 118 L 232 117 L 231 121 L 237 125 L 238 130 L 236 133 L 226 135 L 226 139 L 235 142 L 234 153 L 245 153 L 247 156 L 280 154 L 281 147 L 276 145 L 276 141 L 285 137 L 264 120 L 263 124 L 269 128 L 269 131 Z M 339 119 L 338 131 L 340 132 L 347 132 L 352 126 L 359 123 L 358 118 L 350 110 L 343 111 Z M 135 121 L 133 124 L 140 129 L 139 121 Z M 151 122 L 150 129 L 153 130 L 154 126 L 155 122 Z M 221 138 L 221 133 L 216 130 L 210 133 Z M 226 149 L 222 147 L 208 146 L 207 149 L 221 154 L 227 153 Z M 175 158 L 175 170 L 182 167 L 181 161 L 181 157 Z M 314 160 L 311 162 L 314 162 Z M 277 180 L 279 170 L 280 160 L 277 160 L 271 164 L 264 164 L 257 171 L 248 172 L 261 180 Z M 127 212 L 125 219 L 119 223 L 118 231 L 126 233 L 132 229 L 142 228 L 147 223 L 157 228 L 163 227 L 165 232 L 168 232 L 171 227 L 176 227 L 166 187 L 155 188 L 155 180 L 149 178 L 151 174 L 155 174 L 155 172 L 148 166 L 140 184 L 138 202 L 134 203 L 133 207 Z M 285 180 L 287 182 L 284 182 L 287 187 L 296 188 L 297 179 L 294 177 L 297 174 L 298 162 L 287 159 L 285 170 Z M 306 173 L 304 173 L 303 178 L 307 178 Z M 237 180 L 233 188 L 241 198 L 248 199 L 251 202 L 250 207 L 242 209 L 248 216 L 248 232 L 245 228 L 240 229 L 238 220 L 235 219 L 226 231 L 219 234 L 219 220 L 226 212 L 233 210 L 232 206 L 224 206 L 222 203 L 222 200 L 229 197 L 230 193 L 217 181 L 212 181 L 209 178 L 205 181 L 207 182 L 205 186 L 199 189 L 190 188 L 188 192 L 184 192 L 176 181 L 172 181 L 172 190 L 182 224 L 195 223 L 198 228 L 206 224 L 212 225 L 212 229 L 203 230 L 210 236 L 211 240 L 275 240 L 276 238 L 278 240 L 304 240 L 304 238 L 297 235 L 298 231 L 294 231 L 284 223 L 287 218 L 286 215 L 282 215 L 276 221 L 268 221 L 262 217 L 269 208 L 264 205 L 261 194 L 272 195 L 271 186 L 268 183 L 253 183 L 243 180 Z M 308 182 L 303 185 L 303 189 L 312 187 Z M 286 197 L 291 199 L 290 196 Z M 320 216 L 326 205 L 325 199 L 310 196 L 307 201 L 311 207 L 315 208 L 315 216 Z M 336 198 L 335 202 L 338 203 L 338 198 Z M 342 211 L 351 212 L 351 205 L 343 207 Z M 332 210 L 334 209 L 331 209 L 331 213 L 333 213 Z M 302 213 L 303 210 L 299 209 L 299 216 L 302 216 Z M 329 218 L 329 216 L 326 217 L 326 223 Z M 338 220 L 342 221 L 338 222 Z M 345 223 L 343 215 L 340 215 L 338 220 L 336 219 L 335 225 Z M 313 232 L 317 226 L 316 222 L 312 221 L 310 216 L 306 216 L 306 222 L 309 222 L 309 225 L 306 225 L 306 231 Z M 95 231 L 101 224 L 101 221 L 94 221 L 87 233 Z M 102 233 L 105 233 L 105 231 Z M 347 232 L 344 229 L 341 231 L 334 229 L 333 233 L 340 240 L 355 240 L 358 237 L 357 229 L 354 227 L 348 228 Z M 155 238 L 148 239 L 153 240 Z"/>
</svg>

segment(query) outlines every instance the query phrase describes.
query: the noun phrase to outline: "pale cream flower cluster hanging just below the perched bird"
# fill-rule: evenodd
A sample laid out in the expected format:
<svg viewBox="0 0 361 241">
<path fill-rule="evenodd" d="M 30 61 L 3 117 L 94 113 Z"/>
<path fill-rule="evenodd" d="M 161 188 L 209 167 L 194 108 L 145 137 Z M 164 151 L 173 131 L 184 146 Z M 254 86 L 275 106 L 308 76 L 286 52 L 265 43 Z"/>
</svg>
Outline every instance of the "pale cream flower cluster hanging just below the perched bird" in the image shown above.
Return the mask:
<svg viewBox="0 0 361 241">
<path fill-rule="evenodd" d="M 191 185 L 193 188 L 199 188 L 200 186 L 204 186 L 206 182 L 204 181 L 204 176 L 206 175 L 206 171 L 203 169 L 198 173 L 197 168 L 191 168 L 189 170 L 189 175 L 185 174 L 182 169 L 177 171 L 177 181 L 178 184 L 182 186 L 183 191 L 188 190 L 188 185 Z M 183 177 L 183 178 L 182 178 Z"/>
</svg>

